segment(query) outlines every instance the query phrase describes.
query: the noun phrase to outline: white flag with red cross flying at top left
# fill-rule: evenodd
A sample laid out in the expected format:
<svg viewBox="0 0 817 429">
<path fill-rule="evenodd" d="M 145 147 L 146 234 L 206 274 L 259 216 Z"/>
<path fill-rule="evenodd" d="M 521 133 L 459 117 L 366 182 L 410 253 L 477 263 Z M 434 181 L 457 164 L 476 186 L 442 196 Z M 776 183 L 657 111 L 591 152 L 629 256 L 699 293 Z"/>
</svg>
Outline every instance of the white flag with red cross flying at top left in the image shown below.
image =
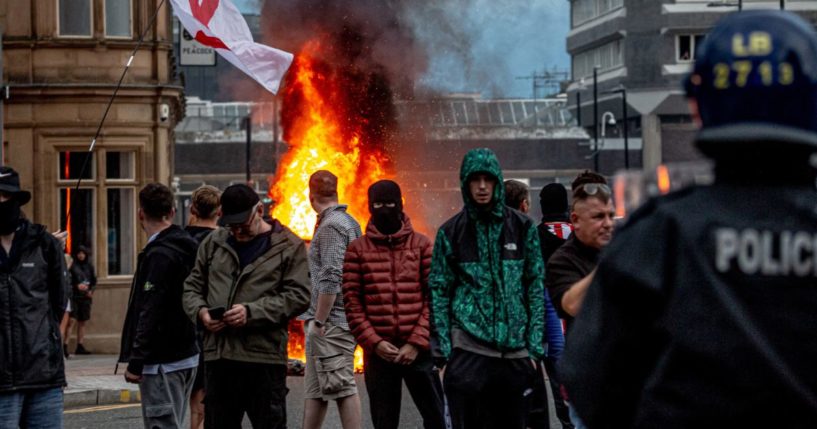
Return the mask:
<svg viewBox="0 0 817 429">
<path fill-rule="evenodd" d="M 241 12 L 230 0 L 170 0 L 184 28 L 202 45 L 276 94 L 292 54 L 255 43 Z"/>
</svg>

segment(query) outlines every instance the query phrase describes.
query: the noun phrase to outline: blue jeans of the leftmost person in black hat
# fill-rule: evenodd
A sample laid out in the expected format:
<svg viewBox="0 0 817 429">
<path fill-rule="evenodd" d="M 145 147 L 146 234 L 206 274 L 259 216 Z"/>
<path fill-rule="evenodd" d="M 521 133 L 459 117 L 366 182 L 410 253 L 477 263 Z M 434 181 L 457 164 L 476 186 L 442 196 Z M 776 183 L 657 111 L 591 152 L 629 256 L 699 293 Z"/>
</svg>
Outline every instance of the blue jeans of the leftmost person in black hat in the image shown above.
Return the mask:
<svg viewBox="0 0 817 429">
<path fill-rule="evenodd" d="M 0 393 L 0 429 L 62 427 L 62 388 Z"/>
</svg>

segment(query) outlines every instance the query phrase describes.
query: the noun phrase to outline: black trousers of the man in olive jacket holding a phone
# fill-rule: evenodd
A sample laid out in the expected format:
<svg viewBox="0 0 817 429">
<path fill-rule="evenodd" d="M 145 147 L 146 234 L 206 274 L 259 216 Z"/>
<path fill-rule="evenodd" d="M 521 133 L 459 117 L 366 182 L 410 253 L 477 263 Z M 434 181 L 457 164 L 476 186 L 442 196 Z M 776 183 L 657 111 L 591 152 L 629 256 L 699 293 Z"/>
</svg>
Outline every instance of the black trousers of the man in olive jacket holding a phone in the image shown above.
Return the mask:
<svg viewBox="0 0 817 429">
<path fill-rule="evenodd" d="M 205 429 L 286 429 L 286 365 L 216 360 L 204 367 Z"/>
</svg>

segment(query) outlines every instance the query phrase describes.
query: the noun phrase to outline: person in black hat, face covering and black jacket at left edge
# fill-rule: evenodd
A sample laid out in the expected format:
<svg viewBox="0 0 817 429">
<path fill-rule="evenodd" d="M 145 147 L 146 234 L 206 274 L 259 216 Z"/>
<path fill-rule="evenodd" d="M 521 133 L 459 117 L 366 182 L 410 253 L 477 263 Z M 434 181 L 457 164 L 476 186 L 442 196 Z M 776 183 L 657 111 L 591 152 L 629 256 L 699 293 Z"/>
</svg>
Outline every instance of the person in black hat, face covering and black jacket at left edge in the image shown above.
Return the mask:
<svg viewBox="0 0 817 429">
<path fill-rule="evenodd" d="M 0 167 L 0 427 L 62 427 L 60 318 L 71 284 L 62 246 L 23 218 L 31 194 Z"/>
</svg>

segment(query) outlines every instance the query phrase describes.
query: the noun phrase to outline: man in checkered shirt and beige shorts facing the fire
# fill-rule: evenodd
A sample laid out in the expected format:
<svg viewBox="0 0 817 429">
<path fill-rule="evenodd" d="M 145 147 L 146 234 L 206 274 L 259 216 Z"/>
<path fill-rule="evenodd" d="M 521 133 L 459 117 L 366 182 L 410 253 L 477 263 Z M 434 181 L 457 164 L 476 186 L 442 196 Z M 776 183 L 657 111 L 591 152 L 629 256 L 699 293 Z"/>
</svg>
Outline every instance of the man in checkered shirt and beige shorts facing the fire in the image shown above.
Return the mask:
<svg viewBox="0 0 817 429">
<path fill-rule="evenodd" d="M 338 204 L 338 178 L 326 170 L 309 178 L 309 202 L 318 223 L 309 246 L 312 300 L 304 320 L 305 429 L 323 424 L 328 401 L 337 401 L 344 429 L 360 428 L 360 398 L 354 379 L 355 337 L 346 323 L 341 284 L 346 247 L 360 237 L 360 224 Z"/>
</svg>

